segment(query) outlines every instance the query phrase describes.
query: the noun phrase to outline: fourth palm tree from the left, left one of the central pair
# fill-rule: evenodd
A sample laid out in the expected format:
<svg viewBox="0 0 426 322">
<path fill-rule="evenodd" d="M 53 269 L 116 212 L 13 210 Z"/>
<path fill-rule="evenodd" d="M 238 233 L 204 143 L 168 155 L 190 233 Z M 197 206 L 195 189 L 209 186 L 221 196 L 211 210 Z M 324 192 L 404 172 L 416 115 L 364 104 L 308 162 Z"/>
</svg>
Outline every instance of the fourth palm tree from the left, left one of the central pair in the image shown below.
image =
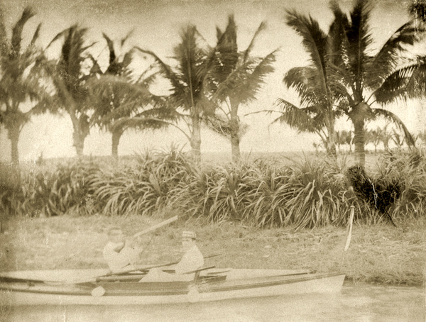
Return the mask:
<svg viewBox="0 0 426 322">
<path fill-rule="evenodd" d="M 165 104 L 175 111 L 175 118 L 184 123 L 168 122 L 178 128 L 190 142 L 192 156 L 201 160 L 201 126 L 206 113 L 212 113 L 213 104 L 207 104 L 205 79 L 209 71 L 210 48 L 195 26 L 182 29 L 180 43 L 174 48 L 175 67 L 163 62 L 154 52 L 137 48 L 146 55 L 151 55 L 157 62 L 159 71 L 170 82 L 170 95 Z"/>
</svg>

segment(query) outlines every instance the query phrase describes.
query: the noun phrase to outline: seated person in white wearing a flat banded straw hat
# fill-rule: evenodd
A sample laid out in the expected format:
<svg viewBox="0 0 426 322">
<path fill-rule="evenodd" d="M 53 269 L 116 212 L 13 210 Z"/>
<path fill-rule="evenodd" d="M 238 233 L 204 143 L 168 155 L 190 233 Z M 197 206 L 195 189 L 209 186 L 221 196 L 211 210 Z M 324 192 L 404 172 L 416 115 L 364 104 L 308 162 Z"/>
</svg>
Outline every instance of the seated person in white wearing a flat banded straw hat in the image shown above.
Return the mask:
<svg viewBox="0 0 426 322">
<path fill-rule="evenodd" d="M 204 265 L 204 257 L 195 243 L 197 235 L 193 231 L 182 232 L 182 248 L 185 255 L 175 266 L 175 274 L 163 272 L 161 268 L 152 269 L 139 282 L 169 282 L 190 281 L 194 279 L 195 273 L 187 274 L 199 269 Z"/>
</svg>

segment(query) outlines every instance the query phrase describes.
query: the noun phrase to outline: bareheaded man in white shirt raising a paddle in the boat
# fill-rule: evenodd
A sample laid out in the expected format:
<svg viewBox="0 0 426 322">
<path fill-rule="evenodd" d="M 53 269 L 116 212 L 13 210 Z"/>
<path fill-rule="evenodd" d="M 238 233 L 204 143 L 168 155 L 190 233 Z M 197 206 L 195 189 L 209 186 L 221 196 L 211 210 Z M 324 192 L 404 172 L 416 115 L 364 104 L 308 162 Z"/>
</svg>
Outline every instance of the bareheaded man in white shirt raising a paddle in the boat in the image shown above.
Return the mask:
<svg viewBox="0 0 426 322">
<path fill-rule="evenodd" d="M 127 270 L 138 262 L 142 249 L 136 245 L 136 240 L 126 240 L 126 235 L 119 227 L 108 231 L 108 243 L 104 247 L 104 259 L 111 272 Z"/>
</svg>

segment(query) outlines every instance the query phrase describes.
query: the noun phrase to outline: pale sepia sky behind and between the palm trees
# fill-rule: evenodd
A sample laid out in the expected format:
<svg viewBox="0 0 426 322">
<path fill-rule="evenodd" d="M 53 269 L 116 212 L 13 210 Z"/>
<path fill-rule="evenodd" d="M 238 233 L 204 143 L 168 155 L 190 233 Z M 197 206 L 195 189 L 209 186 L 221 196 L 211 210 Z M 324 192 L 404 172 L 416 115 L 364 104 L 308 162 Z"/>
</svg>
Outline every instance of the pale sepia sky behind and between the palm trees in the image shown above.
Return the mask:
<svg viewBox="0 0 426 322">
<path fill-rule="evenodd" d="M 373 0 L 371 30 L 374 40 L 373 50 L 408 21 L 408 2 L 393 0 Z M 302 48 L 300 37 L 285 25 L 285 11 L 294 9 L 311 15 L 327 30 L 332 21 L 329 1 L 325 0 L 0 0 L 4 6 L 6 28 L 20 18 L 23 8 L 31 5 L 37 13 L 26 24 L 23 41 L 28 41 L 38 23 L 43 22 L 40 31 L 40 45 L 45 48 L 61 30 L 79 23 L 89 28 L 89 39 L 97 42 L 92 52 L 99 59 L 106 59 L 107 44 L 102 38 L 106 33 L 113 40 L 121 40 L 132 31 L 128 40 L 129 48 L 138 45 L 155 52 L 166 62 L 170 60 L 173 47 L 179 42 L 182 27 L 191 23 L 204 36 L 210 45 L 216 40 L 216 27 L 226 27 L 228 15 L 234 13 L 238 28 L 237 39 L 240 50 L 247 45 L 262 21 L 267 28 L 256 42 L 253 55 L 265 56 L 280 48 L 275 62 L 275 72 L 266 79 L 266 84 L 258 94 L 258 99 L 240 110 L 241 121 L 249 125 L 241 140 L 243 152 L 288 152 L 314 150 L 312 143 L 320 143 L 315 135 L 297 133 L 286 125 L 270 126 L 276 115 L 247 113 L 274 107 L 276 99 L 282 98 L 298 103 L 297 95 L 285 88 L 282 80 L 285 72 L 292 67 L 309 64 L 309 57 Z M 342 9 L 349 10 L 352 1 L 339 1 Z M 127 48 L 127 49 L 129 49 Z M 124 48 L 126 50 L 126 48 Z M 54 52 L 51 55 L 55 55 Z M 413 133 L 425 128 L 421 101 L 399 102 L 387 109 L 396 113 Z M 381 123 L 371 123 L 375 128 Z M 349 130 L 350 123 L 340 120 L 337 129 Z M 168 149 L 174 144 L 184 150 L 190 145 L 186 138 L 173 129 L 156 132 L 124 133 L 119 145 L 119 155 L 131 155 L 147 149 Z M 72 125 L 70 116 L 37 116 L 26 124 L 19 142 L 21 160 L 31 161 L 43 153 L 43 157 L 71 157 L 75 155 L 72 146 Z M 223 152 L 230 154 L 229 141 L 204 129 L 202 131 L 202 152 Z M 10 143 L 6 131 L 0 131 L 0 160 L 10 160 Z M 85 155 L 110 155 L 111 135 L 92 128 L 84 143 Z"/>
</svg>

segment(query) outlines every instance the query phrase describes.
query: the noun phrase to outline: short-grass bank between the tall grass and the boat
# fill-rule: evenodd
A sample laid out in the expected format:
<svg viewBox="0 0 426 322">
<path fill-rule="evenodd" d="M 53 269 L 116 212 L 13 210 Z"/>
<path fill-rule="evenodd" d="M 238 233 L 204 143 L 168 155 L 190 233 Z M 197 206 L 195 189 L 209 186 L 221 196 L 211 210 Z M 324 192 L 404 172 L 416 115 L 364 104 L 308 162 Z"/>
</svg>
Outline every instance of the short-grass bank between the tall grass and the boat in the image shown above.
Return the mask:
<svg viewBox="0 0 426 322">
<path fill-rule="evenodd" d="M 121 226 L 131 234 L 161 220 L 146 216 L 9 218 L 0 234 L 0 271 L 106 268 L 102 248 L 109 226 Z M 398 228 L 386 223 L 356 225 L 345 253 L 344 227 L 295 232 L 290 227 L 256 229 L 229 222 L 205 225 L 178 221 L 145 237 L 141 262 L 178 260 L 183 228 L 197 232 L 204 255 L 222 253 L 207 265 L 341 271 L 353 282 L 421 285 L 424 281 L 424 217 L 398 223 Z"/>
</svg>

